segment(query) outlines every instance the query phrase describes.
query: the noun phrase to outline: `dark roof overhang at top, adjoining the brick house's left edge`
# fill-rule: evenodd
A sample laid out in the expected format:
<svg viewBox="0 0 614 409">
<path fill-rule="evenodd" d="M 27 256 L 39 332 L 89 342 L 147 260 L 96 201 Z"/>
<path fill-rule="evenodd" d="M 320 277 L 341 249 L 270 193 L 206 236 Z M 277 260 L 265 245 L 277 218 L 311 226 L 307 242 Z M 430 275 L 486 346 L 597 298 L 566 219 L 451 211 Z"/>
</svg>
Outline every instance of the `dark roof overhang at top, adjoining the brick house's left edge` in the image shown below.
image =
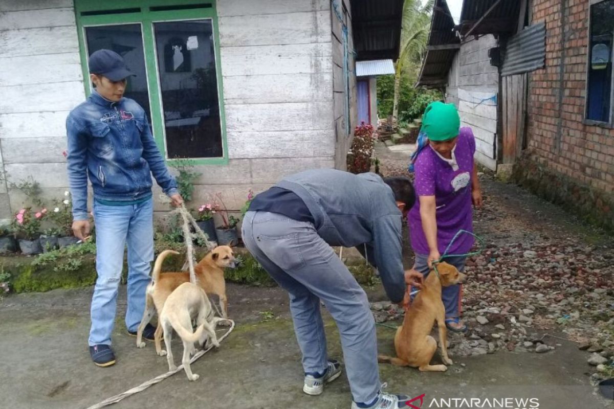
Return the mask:
<svg viewBox="0 0 614 409">
<path fill-rule="evenodd" d="M 497 0 L 464 0 L 459 31 L 465 35 L 475 23 L 497 2 Z M 515 32 L 518 26 L 519 0 L 501 0 L 497 7 L 480 22 L 471 34 L 494 34 Z"/>
</svg>

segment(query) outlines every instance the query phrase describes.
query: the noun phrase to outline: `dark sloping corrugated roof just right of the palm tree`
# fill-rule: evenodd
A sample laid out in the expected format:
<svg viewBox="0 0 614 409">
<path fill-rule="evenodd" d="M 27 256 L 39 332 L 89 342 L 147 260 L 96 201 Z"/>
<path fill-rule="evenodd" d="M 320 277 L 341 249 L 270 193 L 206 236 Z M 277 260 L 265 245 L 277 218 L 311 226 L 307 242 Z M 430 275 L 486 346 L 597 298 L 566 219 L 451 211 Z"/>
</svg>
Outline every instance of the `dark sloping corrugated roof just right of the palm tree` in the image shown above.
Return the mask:
<svg viewBox="0 0 614 409">
<path fill-rule="evenodd" d="M 429 42 L 432 46 L 457 45 L 461 40 L 454 31 L 454 20 L 446 0 L 436 0 L 431 18 Z M 427 50 L 422 58 L 419 86 L 441 86 L 448 82 L 448 71 L 457 50 L 454 48 Z"/>
</svg>

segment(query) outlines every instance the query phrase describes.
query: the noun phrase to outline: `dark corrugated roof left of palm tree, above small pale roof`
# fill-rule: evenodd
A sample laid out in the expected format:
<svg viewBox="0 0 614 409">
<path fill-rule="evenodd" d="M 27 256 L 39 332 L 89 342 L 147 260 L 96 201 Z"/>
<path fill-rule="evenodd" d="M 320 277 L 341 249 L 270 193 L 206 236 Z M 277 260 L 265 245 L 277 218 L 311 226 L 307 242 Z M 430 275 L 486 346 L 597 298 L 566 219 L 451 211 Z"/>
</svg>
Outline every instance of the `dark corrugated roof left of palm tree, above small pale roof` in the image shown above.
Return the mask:
<svg viewBox="0 0 614 409">
<path fill-rule="evenodd" d="M 398 58 L 403 0 L 351 0 L 356 59 Z"/>
</svg>

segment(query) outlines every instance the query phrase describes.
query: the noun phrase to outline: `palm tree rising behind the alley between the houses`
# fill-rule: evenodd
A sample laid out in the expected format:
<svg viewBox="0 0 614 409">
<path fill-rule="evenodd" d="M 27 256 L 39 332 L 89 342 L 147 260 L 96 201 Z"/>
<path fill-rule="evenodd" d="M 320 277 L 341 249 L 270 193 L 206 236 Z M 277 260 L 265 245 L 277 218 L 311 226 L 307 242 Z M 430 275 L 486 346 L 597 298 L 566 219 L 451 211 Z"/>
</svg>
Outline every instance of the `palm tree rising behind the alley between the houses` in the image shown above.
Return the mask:
<svg viewBox="0 0 614 409">
<path fill-rule="evenodd" d="M 405 0 L 401 26 L 401 45 L 394 74 L 394 102 L 392 117 L 398 118 L 398 94 L 403 74 L 416 74 L 429 39 L 430 13 L 435 0 Z"/>
</svg>

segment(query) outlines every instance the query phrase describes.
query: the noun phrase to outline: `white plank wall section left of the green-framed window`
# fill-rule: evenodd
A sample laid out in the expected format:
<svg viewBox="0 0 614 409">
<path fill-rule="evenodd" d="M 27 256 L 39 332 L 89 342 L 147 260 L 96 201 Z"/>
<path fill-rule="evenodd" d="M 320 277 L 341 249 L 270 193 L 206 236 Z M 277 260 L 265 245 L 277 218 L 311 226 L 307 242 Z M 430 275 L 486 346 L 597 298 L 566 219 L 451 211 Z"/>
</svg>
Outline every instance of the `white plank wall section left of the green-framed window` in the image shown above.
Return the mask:
<svg viewBox="0 0 614 409">
<path fill-rule="evenodd" d="M 72 0 L 0 1 L 0 219 L 25 204 L 33 177 L 47 199 L 68 186 L 66 115 L 84 101 Z"/>
</svg>

